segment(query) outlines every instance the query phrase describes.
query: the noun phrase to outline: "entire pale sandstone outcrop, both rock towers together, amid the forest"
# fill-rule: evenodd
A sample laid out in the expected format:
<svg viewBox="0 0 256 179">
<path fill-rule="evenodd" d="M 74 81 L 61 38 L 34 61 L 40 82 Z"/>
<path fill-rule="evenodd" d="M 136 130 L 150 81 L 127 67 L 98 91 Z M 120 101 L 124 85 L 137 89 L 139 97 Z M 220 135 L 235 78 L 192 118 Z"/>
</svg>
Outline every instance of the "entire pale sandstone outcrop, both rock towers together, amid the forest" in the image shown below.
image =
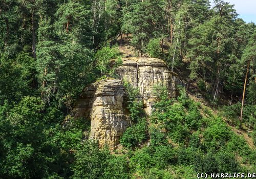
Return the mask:
<svg viewBox="0 0 256 179">
<path fill-rule="evenodd" d="M 91 120 L 90 139 L 96 139 L 100 147 L 106 144 L 110 149 L 118 147 L 120 136 L 130 125 L 129 117 L 125 115 L 123 80 L 139 88 L 147 114 L 152 113 L 155 103 L 155 85 L 166 86 L 169 97 L 176 96 L 176 76 L 166 68 L 163 60 L 125 58 L 116 73 L 120 79 L 104 79 L 84 89 L 75 113 L 76 118 Z"/>
</svg>

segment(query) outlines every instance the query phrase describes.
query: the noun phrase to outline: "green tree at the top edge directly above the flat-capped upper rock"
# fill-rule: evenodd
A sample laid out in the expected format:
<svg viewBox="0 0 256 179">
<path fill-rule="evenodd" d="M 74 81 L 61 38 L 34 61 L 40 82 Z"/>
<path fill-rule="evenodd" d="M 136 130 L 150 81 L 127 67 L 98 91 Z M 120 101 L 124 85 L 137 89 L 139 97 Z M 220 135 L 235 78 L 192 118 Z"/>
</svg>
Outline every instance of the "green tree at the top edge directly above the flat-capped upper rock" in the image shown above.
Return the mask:
<svg viewBox="0 0 256 179">
<path fill-rule="evenodd" d="M 140 56 L 151 36 L 161 37 L 164 31 L 164 1 L 135 1 L 123 9 L 123 33 L 132 33 L 132 44 Z M 154 9 L 154 11 L 153 11 Z"/>
</svg>

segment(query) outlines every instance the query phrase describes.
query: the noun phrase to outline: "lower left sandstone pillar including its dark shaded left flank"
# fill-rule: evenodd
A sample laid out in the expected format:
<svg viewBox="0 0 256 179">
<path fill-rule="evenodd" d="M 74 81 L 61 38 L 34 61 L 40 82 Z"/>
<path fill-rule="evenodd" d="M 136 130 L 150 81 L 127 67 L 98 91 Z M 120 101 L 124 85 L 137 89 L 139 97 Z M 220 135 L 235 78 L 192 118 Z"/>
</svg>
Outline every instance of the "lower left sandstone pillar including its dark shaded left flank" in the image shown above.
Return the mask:
<svg viewBox="0 0 256 179">
<path fill-rule="evenodd" d="M 123 114 L 123 94 L 121 80 L 104 79 L 87 87 L 77 102 L 75 117 L 91 119 L 90 139 L 96 139 L 99 147 L 115 149 L 129 124 Z"/>
</svg>

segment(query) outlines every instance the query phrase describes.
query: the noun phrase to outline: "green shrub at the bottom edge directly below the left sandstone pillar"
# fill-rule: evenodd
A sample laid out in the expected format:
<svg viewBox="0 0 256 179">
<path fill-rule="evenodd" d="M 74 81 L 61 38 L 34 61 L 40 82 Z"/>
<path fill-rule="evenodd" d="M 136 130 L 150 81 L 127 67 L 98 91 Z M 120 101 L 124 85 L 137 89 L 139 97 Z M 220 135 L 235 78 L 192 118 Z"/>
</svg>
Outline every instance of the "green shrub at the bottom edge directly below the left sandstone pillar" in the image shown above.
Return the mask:
<svg viewBox="0 0 256 179">
<path fill-rule="evenodd" d="M 71 178 L 130 178 L 125 156 L 115 156 L 99 149 L 97 143 L 86 140 L 75 153 Z"/>
</svg>

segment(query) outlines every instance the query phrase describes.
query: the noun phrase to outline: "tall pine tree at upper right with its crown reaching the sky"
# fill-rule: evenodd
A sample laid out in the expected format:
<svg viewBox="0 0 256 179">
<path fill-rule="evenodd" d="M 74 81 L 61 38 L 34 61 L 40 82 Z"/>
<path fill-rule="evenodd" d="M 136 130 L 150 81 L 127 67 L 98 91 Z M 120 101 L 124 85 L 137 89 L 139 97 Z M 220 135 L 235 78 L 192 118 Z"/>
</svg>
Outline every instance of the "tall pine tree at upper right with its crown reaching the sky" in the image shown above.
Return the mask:
<svg viewBox="0 0 256 179">
<path fill-rule="evenodd" d="M 199 72 L 204 74 L 210 72 L 208 78 L 214 79 L 212 82 L 213 100 L 218 96 L 219 87 L 223 83 L 223 74 L 226 73 L 233 48 L 236 42 L 233 39 L 234 19 L 237 14 L 232 5 L 223 1 L 215 1 L 212 17 L 204 24 L 199 25 L 189 39 L 190 49 L 188 57 L 191 59 L 189 69 L 190 79 L 196 79 Z"/>
</svg>

